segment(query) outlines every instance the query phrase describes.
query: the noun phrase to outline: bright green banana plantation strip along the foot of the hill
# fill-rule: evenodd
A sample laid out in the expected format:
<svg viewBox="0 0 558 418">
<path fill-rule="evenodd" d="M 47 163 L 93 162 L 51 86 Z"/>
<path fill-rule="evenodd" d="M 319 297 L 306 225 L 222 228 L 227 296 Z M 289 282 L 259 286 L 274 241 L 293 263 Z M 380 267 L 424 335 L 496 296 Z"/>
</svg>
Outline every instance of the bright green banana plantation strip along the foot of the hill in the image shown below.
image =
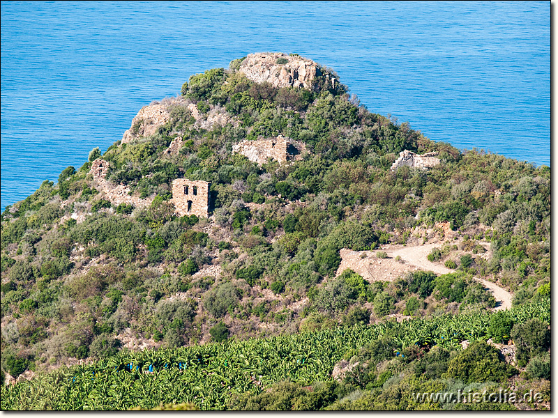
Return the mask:
<svg viewBox="0 0 558 418">
<path fill-rule="evenodd" d="M 550 300 L 504 311 L 515 323 L 550 323 Z M 489 339 L 491 314 L 443 315 L 401 323 L 338 327 L 269 339 L 204 346 L 121 351 L 114 357 L 35 376 L 1 392 L 2 410 L 126 410 L 193 403 L 224 410 L 234 393 L 257 394 L 282 380 L 331 380 L 336 363 L 375 339 L 399 349 L 417 345 L 460 350 L 461 341 Z M 393 356 L 397 356 L 394 350 Z"/>
</svg>

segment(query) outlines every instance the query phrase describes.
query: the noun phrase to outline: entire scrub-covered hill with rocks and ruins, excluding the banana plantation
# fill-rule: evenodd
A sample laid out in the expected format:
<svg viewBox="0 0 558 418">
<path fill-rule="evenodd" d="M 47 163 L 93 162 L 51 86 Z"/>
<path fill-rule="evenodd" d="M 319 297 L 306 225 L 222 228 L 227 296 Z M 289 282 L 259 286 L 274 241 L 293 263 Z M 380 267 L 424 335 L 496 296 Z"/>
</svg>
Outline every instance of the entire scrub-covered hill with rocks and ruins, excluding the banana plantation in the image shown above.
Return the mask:
<svg viewBox="0 0 558 418">
<path fill-rule="evenodd" d="M 319 366 L 320 382 L 266 387 L 319 392 L 337 378 L 316 409 L 379 408 L 377 396 L 406 385 L 395 375 L 466 383 L 458 363 L 472 350 L 461 348 L 477 344 L 494 364 L 470 382 L 547 396 L 550 169 L 430 141 L 298 54 L 249 54 L 142 107 L 105 153 L 8 206 L 1 295 L 10 387 L 97 360 L 123 371 L 127 350 L 387 327 Z M 483 319 L 448 345 L 430 328 L 400 334 L 446 315 Z M 536 339 L 519 344 L 525 333 Z M 231 389 L 228 407 L 263 405 L 250 397 L 261 385 Z M 218 405 L 191 396 L 161 401 Z"/>
</svg>

